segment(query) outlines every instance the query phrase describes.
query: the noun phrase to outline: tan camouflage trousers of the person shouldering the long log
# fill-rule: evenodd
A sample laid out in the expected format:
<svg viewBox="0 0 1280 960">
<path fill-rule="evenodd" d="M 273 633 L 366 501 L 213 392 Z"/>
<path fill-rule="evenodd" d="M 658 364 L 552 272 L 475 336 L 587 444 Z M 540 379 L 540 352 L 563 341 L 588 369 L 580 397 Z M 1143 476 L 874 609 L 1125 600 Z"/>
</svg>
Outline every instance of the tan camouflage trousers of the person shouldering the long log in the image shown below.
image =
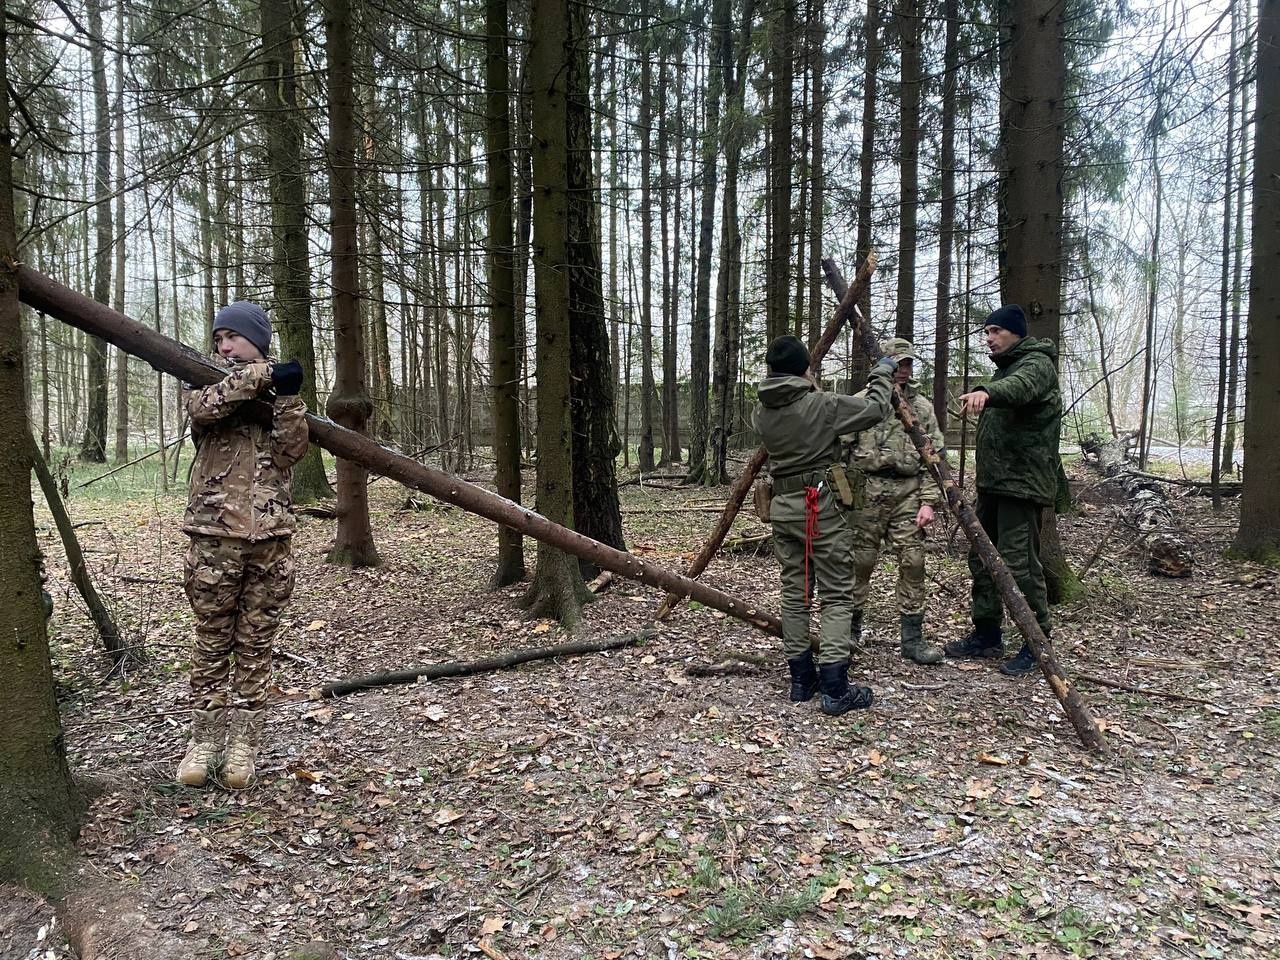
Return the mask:
<svg viewBox="0 0 1280 960">
<path fill-rule="evenodd" d="M 289 538 L 192 536 L 183 585 L 196 613 L 192 707 L 266 707 L 271 640 L 293 594 Z"/>
</svg>

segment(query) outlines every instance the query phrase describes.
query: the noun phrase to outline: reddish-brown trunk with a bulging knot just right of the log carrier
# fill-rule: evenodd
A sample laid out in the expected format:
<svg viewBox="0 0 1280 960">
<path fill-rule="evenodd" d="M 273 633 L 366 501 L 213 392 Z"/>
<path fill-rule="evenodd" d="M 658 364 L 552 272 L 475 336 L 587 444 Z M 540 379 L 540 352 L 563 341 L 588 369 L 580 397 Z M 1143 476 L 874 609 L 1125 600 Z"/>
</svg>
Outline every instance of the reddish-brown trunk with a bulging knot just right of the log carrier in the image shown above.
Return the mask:
<svg viewBox="0 0 1280 960">
<path fill-rule="evenodd" d="M 356 251 L 355 93 L 351 65 L 351 3 L 328 0 L 325 47 L 329 58 L 329 195 L 333 207 L 333 324 L 337 378 L 326 412 L 362 433 L 372 413 L 365 388 L 365 332 L 360 324 Z M 362 466 L 338 461 L 338 531 L 328 557 L 351 567 L 378 564 L 369 525 L 369 483 Z"/>
</svg>

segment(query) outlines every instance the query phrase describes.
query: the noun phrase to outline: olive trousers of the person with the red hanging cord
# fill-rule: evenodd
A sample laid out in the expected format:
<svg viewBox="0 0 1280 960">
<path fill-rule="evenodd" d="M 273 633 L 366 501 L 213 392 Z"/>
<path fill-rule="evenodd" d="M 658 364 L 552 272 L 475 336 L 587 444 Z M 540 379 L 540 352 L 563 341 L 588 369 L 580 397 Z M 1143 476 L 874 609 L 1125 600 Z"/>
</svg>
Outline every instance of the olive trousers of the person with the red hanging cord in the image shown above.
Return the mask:
<svg viewBox="0 0 1280 960">
<path fill-rule="evenodd" d="M 847 663 L 849 623 L 854 611 L 849 527 L 838 509 L 823 511 L 809 557 L 810 596 L 822 600 L 818 663 Z M 773 521 L 773 554 L 782 567 L 782 650 L 787 659 L 809 649 L 805 607 L 804 520 Z"/>
</svg>

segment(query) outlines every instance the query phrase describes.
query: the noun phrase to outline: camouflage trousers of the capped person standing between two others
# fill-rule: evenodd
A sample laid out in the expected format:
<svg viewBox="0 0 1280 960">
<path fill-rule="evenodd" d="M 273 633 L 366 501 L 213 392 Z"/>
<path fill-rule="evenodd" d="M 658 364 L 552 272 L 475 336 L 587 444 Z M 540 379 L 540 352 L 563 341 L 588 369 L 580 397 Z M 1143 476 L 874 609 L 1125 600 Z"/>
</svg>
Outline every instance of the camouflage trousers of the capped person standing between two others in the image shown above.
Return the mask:
<svg viewBox="0 0 1280 960">
<path fill-rule="evenodd" d="M 849 513 L 854 539 L 854 609 L 867 604 L 881 544 L 897 552 L 897 612 L 924 612 L 924 532 L 915 526 L 920 481 L 914 477 L 867 477 L 867 506 Z"/>
</svg>

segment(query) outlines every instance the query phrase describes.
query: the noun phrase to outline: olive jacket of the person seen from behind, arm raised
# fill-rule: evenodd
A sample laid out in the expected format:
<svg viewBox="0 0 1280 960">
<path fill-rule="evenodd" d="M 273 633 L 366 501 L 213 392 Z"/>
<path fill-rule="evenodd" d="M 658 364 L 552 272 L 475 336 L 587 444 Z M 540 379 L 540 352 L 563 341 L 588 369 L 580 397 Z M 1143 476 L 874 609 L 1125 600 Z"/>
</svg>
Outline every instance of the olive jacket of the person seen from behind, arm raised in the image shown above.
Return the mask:
<svg viewBox="0 0 1280 960">
<path fill-rule="evenodd" d="M 751 424 L 769 452 L 774 477 L 826 474 L 840 461 L 840 436 L 879 422 L 890 412 L 892 379 L 873 369 L 864 397 L 815 390 L 803 376 L 771 376 L 759 385 L 760 403 Z M 835 511 L 836 500 L 824 488 L 822 511 Z M 774 520 L 804 517 L 804 493 L 776 495 Z"/>
</svg>

